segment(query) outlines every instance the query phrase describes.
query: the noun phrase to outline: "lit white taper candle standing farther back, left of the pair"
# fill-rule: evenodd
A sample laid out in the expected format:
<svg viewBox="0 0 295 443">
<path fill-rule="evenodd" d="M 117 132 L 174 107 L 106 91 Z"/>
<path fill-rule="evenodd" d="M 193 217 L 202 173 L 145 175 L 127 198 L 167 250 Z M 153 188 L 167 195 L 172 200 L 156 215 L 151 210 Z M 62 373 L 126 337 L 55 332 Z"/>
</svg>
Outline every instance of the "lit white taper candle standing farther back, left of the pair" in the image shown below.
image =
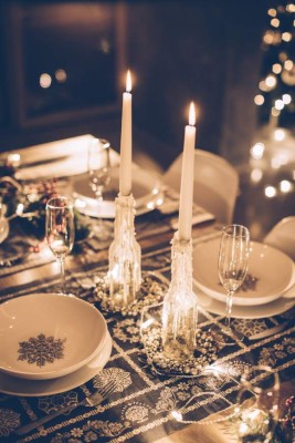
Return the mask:
<svg viewBox="0 0 295 443">
<path fill-rule="evenodd" d="M 126 92 L 123 94 L 122 128 L 120 128 L 120 167 L 119 192 L 122 195 L 131 193 L 131 162 L 133 162 L 133 95 L 131 75 L 128 70 L 126 76 Z"/>
</svg>

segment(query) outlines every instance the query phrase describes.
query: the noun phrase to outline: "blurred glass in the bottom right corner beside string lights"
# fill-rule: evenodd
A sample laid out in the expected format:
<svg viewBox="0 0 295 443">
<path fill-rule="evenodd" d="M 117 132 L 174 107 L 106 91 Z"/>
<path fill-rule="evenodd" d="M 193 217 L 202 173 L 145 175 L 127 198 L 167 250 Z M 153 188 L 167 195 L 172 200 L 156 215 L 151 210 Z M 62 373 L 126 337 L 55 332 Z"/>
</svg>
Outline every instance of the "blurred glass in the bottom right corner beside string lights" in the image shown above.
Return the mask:
<svg viewBox="0 0 295 443">
<path fill-rule="evenodd" d="M 250 367 L 240 381 L 235 406 L 239 443 L 270 443 L 278 421 L 280 378 L 270 367 Z"/>
</svg>

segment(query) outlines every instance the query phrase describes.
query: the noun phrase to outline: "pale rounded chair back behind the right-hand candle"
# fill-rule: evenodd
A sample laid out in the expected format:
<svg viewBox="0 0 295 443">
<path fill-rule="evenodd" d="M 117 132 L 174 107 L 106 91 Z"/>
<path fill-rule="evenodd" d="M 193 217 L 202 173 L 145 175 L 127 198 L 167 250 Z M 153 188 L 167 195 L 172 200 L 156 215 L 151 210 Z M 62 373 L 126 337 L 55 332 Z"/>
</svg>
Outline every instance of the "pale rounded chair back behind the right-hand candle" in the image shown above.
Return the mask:
<svg viewBox="0 0 295 443">
<path fill-rule="evenodd" d="M 164 183 L 180 189 L 182 154 L 164 174 Z M 224 224 L 232 223 L 239 193 L 239 174 L 219 155 L 202 150 L 194 152 L 193 202 Z"/>
</svg>

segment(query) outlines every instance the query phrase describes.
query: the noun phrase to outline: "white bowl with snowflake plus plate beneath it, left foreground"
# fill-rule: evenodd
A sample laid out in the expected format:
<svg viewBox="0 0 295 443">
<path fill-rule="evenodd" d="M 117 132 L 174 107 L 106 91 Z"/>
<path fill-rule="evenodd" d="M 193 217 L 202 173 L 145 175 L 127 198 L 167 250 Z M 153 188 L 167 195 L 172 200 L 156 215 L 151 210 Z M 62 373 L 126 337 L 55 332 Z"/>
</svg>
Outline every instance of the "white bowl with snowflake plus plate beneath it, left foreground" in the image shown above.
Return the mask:
<svg viewBox="0 0 295 443">
<path fill-rule="evenodd" d="M 91 380 L 112 339 L 102 313 L 74 296 L 33 293 L 0 305 L 0 392 L 50 395 Z"/>
</svg>

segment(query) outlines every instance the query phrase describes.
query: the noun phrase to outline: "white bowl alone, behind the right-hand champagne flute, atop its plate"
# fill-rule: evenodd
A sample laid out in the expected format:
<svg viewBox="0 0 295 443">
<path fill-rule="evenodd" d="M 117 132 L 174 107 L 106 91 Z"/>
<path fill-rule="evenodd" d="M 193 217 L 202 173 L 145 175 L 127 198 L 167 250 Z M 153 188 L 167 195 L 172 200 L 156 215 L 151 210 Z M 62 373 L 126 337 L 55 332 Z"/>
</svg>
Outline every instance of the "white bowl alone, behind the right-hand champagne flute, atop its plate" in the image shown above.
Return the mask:
<svg viewBox="0 0 295 443">
<path fill-rule="evenodd" d="M 193 249 L 193 279 L 208 296 L 225 302 L 225 290 L 218 276 L 220 238 L 200 243 Z M 293 260 L 281 250 L 251 241 L 247 277 L 254 277 L 252 286 L 244 284 L 234 295 L 234 306 L 260 306 L 278 299 L 293 281 Z"/>
</svg>

